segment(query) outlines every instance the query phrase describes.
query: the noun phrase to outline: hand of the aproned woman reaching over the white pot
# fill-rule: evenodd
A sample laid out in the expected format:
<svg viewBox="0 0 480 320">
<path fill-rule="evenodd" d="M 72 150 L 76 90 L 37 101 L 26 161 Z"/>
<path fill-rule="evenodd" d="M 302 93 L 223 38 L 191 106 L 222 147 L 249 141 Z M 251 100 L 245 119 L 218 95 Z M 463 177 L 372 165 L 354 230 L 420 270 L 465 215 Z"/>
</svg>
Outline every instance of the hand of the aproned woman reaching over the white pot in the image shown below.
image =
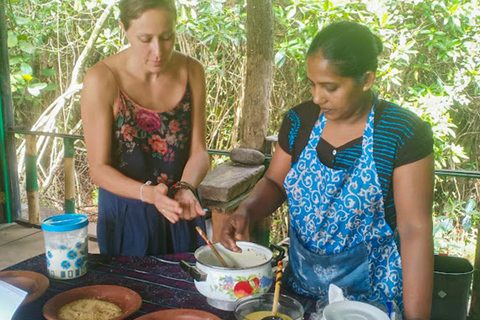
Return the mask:
<svg viewBox="0 0 480 320">
<path fill-rule="evenodd" d="M 237 246 L 237 240 L 248 240 L 245 235 L 250 225 L 250 217 L 241 207 L 237 209 L 223 224 L 220 233 L 220 243 L 234 252 L 242 252 Z"/>
</svg>

